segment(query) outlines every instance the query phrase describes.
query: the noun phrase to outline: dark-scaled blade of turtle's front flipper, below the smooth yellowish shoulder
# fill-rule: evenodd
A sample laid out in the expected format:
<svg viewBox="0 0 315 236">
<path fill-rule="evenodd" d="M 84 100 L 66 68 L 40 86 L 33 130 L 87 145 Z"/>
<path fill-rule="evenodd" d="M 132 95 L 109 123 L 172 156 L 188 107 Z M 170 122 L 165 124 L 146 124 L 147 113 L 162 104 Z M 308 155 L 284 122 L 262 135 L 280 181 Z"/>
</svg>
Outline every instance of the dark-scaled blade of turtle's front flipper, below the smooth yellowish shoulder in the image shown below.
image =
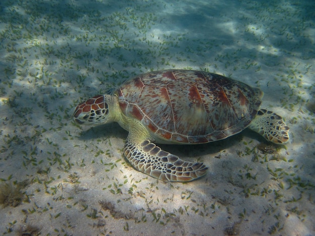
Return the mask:
<svg viewBox="0 0 315 236">
<path fill-rule="evenodd" d="M 203 163 L 183 161 L 178 156 L 163 151 L 149 140 L 136 144 L 128 137 L 124 156 L 135 169 L 163 181 L 192 181 L 205 175 L 208 169 Z"/>
</svg>

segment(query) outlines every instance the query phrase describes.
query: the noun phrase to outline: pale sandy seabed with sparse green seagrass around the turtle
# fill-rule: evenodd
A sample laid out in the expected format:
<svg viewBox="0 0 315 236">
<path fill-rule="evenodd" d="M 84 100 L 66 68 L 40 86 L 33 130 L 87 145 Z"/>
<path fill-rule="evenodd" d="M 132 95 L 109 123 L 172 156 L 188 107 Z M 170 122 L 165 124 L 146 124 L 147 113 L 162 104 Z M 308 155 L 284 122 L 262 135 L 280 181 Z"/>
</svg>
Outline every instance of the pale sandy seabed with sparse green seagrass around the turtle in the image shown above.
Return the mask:
<svg viewBox="0 0 315 236">
<path fill-rule="evenodd" d="M 0 233 L 315 235 L 311 1 L 1 1 Z M 117 124 L 76 104 L 150 70 L 198 69 L 264 91 L 290 127 L 162 145 L 207 175 L 166 183 L 122 157 Z"/>
</svg>

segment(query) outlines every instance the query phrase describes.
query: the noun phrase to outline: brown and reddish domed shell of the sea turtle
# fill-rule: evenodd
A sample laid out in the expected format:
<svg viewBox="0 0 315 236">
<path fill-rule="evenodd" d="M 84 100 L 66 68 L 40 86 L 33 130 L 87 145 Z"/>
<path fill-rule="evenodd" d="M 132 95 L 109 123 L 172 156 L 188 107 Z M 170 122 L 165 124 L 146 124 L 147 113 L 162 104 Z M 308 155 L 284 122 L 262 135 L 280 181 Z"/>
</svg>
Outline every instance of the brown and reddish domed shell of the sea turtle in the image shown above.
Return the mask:
<svg viewBox="0 0 315 236">
<path fill-rule="evenodd" d="M 116 92 L 121 112 L 156 140 L 199 144 L 225 139 L 249 126 L 263 92 L 222 75 L 194 70 L 149 72 Z"/>
</svg>

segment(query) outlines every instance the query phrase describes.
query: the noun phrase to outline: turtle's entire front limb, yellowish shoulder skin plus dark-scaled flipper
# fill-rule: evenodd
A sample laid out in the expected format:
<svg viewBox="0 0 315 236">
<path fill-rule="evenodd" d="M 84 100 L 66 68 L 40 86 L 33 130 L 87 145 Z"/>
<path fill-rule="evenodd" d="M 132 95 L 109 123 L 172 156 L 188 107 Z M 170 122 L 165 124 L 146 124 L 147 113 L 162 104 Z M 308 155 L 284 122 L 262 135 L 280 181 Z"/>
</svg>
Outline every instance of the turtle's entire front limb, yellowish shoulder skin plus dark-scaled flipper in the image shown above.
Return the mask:
<svg viewBox="0 0 315 236">
<path fill-rule="evenodd" d="M 121 114 L 119 124 L 128 125 L 123 155 L 136 170 L 171 182 L 188 182 L 206 174 L 208 167 L 203 163 L 183 161 L 151 143 L 149 133 L 139 121 Z"/>
</svg>

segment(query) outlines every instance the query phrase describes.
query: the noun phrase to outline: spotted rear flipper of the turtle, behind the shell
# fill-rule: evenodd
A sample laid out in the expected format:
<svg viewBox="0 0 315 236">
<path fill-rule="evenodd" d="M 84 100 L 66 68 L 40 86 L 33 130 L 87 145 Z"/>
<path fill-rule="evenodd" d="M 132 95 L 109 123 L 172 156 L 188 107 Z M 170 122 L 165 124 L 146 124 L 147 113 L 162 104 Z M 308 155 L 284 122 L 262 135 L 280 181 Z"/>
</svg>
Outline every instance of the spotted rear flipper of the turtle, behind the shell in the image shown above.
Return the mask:
<svg viewBox="0 0 315 236">
<path fill-rule="evenodd" d="M 275 144 L 289 141 L 289 127 L 280 115 L 270 110 L 260 109 L 249 128 Z"/>
</svg>

